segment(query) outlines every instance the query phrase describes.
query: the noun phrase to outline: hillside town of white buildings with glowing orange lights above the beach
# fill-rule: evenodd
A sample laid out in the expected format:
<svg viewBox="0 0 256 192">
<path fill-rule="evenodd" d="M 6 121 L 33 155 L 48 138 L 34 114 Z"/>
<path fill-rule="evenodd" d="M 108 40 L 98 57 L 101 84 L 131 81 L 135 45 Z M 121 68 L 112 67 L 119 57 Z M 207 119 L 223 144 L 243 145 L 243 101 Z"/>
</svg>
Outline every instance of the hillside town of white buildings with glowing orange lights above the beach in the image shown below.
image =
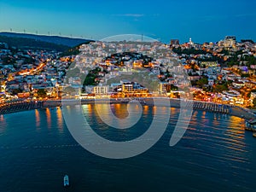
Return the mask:
<svg viewBox="0 0 256 192">
<path fill-rule="evenodd" d="M 0 43 L 0 102 L 166 96 L 256 106 L 256 44 L 92 42 L 79 55 Z"/>
</svg>

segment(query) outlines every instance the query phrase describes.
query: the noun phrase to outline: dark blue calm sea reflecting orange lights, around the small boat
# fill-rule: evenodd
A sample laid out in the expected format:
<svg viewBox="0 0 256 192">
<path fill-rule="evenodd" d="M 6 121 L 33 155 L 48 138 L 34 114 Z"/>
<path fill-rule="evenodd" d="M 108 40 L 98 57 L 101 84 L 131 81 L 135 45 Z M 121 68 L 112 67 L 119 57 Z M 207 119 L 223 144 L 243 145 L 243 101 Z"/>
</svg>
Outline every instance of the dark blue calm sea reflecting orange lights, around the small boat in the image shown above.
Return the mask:
<svg viewBox="0 0 256 192">
<path fill-rule="evenodd" d="M 113 130 L 84 105 L 84 115 L 99 135 L 124 141 L 143 134 L 153 109 L 128 130 Z M 125 105 L 112 106 L 125 116 Z M 171 108 L 163 137 L 147 152 L 125 160 L 105 159 L 80 147 L 69 133 L 61 108 L 0 115 L 0 191 L 255 191 L 256 139 L 244 120 L 195 111 L 176 146 L 169 141 L 179 109 Z M 64 189 L 64 174 L 71 187 Z"/>
</svg>

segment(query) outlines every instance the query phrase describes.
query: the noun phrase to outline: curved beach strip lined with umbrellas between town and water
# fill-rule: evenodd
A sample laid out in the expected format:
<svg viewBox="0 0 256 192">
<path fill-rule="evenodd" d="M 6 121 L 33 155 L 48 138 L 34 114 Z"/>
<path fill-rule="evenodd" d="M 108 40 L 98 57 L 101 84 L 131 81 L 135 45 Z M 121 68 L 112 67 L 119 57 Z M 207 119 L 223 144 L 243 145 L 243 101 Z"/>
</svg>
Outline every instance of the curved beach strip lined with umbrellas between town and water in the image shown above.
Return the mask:
<svg viewBox="0 0 256 192">
<path fill-rule="evenodd" d="M 141 103 L 143 105 L 154 106 L 154 99 L 166 99 L 162 98 L 136 98 L 135 102 Z M 114 103 L 128 103 L 131 102 L 131 98 L 125 99 L 110 99 L 110 104 Z M 106 103 L 107 99 L 96 99 L 97 103 Z M 171 108 L 189 108 L 193 110 L 202 110 L 211 113 L 224 113 L 231 116 L 236 116 L 241 119 L 255 119 L 256 115 L 252 113 L 247 108 L 241 108 L 239 106 L 231 106 L 227 104 L 219 104 L 215 102 L 201 102 L 201 101 L 184 101 L 179 99 L 170 99 L 170 105 L 165 107 Z M 86 100 L 67 100 L 68 104 L 95 104 L 95 99 L 86 99 Z M 36 102 L 14 102 L 8 103 L 0 107 L 0 114 L 6 113 L 17 113 L 26 110 L 34 110 L 39 108 L 56 108 L 61 107 L 61 100 L 47 100 L 47 101 L 36 101 Z"/>
</svg>

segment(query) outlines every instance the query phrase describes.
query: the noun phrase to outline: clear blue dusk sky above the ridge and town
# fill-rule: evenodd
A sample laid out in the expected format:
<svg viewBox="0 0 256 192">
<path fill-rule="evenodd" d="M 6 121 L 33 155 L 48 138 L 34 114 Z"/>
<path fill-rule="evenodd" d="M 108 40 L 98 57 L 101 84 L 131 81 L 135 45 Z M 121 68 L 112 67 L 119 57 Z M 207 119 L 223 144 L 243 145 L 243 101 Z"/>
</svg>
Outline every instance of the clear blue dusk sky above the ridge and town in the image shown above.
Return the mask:
<svg viewBox="0 0 256 192">
<path fill-rule="evenodd" d="M 216 42 L 226 35 L 256 41 L 256 1 L 189 0 L 0 0 L 0 31 L 101 39 L 144 34 Z"/>
</svg>

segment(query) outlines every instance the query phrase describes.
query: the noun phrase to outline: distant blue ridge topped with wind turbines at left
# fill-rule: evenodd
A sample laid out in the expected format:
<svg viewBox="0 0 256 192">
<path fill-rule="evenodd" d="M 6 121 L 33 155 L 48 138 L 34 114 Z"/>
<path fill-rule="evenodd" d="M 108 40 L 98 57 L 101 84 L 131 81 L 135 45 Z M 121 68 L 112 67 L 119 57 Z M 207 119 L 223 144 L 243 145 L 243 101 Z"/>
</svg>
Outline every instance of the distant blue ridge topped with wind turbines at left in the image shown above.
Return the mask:
<svg viewBox="0 0 256 192">
<path fill-rule="evenodd" d="M 32 38 L 37 41 L 43 41 L 51 44 L 61 44 L 68 47 L 75 47 L 79 44 L 88 43 L 92 40 L 83 38 L 65 38 L 59 36 L 47 36 L 47 35 L 33 35 L 26 33 L 16 33 L 16 32 L 0 32 L 0 36 L 5 36 L 9 38 Z"/>
</svg>

